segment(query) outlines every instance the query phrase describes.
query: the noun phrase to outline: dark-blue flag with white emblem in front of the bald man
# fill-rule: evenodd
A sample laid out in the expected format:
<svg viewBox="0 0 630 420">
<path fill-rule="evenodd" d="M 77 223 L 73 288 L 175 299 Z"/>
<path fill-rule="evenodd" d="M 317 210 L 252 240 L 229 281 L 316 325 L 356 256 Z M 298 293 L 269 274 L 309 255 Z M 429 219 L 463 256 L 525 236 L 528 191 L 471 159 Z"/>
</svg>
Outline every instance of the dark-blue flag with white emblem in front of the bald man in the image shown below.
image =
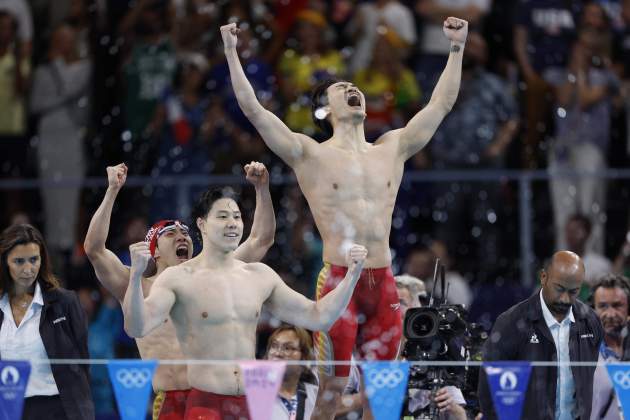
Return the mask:
<svg viewBox="0 0 630 420">
<path fill-rule="evenodd" d="M 500 420 L 518 420 L 523 413 L 525 393 L 532 366 L 529 362 L 489 362 L 483 364 L 494 410 Z"/>
</svg>

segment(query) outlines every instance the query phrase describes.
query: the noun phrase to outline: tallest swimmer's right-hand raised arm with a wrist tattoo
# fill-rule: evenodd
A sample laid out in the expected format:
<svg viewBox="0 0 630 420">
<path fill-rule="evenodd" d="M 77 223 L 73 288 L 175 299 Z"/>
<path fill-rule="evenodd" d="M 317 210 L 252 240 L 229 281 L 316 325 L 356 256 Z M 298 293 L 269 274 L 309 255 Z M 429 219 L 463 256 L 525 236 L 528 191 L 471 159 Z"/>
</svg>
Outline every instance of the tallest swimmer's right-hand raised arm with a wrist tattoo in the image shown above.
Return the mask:
<svg viewBox="0 0 630 420">
<path fill-rule="evenodd" d="M 449 17 L 444 21 L 444 34 L 451 40 L 451 52 L 431 100 L 405 127 L 386 133 L 383 138 L 398 136 L 399 152 L 407 160 L 431 140 L 438 126 L 453 108 L 462 78 L 462 57 L 468 35 L 468 22 Z"/>
</svg>

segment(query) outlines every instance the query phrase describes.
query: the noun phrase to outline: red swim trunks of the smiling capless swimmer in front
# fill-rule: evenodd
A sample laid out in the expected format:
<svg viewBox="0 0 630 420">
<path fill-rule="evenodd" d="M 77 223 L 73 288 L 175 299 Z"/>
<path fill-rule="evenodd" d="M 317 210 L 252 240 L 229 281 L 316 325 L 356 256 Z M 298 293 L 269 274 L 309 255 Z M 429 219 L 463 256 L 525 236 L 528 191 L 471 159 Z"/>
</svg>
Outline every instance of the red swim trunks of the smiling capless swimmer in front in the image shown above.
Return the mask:
<svg viewBox="0 0 630 420">
<path fill-rule="evenodd" d="M 186 420 L 249 420 L 244 395 L 220 395 L 191 389 L 186 403 Z"/>
</svg>

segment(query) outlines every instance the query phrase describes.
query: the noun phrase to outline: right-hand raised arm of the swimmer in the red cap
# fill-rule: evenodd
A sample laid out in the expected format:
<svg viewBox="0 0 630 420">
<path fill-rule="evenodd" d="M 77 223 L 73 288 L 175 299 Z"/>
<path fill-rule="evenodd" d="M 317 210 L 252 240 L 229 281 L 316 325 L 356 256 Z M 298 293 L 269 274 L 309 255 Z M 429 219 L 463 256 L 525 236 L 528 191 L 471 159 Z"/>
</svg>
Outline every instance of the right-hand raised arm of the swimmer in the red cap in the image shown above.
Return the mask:
<svg viewBox="0 0 630 420">
<path fill-rule="evenodd" d="M 256 209 L 249 236 L 234 251 L 234 258 L 245 262 L 262 260 L 273 245 L 276 234 L 276 216 L 269 192 L 269 172 L 260 162 L 245 165 L 245 176 L 256 189 Z"/>
</svg>

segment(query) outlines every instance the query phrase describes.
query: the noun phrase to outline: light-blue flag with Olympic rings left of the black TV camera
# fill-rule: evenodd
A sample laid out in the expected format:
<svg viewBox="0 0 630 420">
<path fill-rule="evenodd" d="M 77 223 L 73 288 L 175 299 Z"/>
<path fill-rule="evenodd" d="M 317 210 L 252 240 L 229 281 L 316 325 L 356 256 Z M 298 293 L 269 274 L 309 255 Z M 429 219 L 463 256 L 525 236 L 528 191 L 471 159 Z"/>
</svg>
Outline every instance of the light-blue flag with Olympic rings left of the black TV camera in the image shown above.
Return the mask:
<svg viewBox="0 0 630 420">
<path fill-rule="evenodd" d="M 366 362 L 363 377 L 374 418 L 399 419 L 407 392 L 409 362 Z"/>
</svg>

